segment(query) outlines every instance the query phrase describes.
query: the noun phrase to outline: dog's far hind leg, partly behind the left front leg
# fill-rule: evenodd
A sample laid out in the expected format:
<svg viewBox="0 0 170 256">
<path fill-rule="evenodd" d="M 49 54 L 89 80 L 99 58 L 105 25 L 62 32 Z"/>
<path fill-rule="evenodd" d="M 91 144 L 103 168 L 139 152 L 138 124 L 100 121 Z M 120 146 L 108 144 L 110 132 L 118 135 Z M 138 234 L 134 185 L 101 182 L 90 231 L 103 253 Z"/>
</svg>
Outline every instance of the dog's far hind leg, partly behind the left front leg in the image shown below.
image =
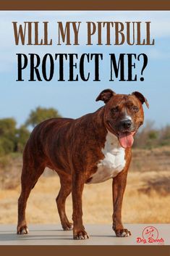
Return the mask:
<svg viewBox="0 0 170 256">
<path fill-rule="evenodd" d="M 70 192 L 72 191 L 71 176 L 60 176 L 60 183 L 61 188 L 58 196 L 56 197 L 56 205 L 59 211 L 61 226 L 65 231 L 67 231 L 72 230 L 72 223 L 69 222 L 65 212 L 65 202 Z"/>
</svg>

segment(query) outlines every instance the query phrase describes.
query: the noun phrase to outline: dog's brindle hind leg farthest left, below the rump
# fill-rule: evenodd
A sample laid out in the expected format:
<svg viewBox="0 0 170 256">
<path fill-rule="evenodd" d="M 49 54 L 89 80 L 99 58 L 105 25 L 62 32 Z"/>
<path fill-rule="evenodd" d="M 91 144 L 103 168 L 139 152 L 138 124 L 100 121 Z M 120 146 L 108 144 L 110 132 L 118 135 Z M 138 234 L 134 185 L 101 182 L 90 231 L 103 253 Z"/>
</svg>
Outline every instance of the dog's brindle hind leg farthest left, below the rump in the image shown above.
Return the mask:
<svg viewBox="0 0 170 256">
<path fill-rule="evenodd" d="M 27 198 L 31 189 L 35 186 L 38 178 L 43 173 L 44 166 L 29 166 L 23 164 L 21 176 L 21 194 L 18 199 L 18 223 L 17 234 L 27 234 L 28 228 L 25 220 L 25 209 L 27 206 Z"/>
</svg>

